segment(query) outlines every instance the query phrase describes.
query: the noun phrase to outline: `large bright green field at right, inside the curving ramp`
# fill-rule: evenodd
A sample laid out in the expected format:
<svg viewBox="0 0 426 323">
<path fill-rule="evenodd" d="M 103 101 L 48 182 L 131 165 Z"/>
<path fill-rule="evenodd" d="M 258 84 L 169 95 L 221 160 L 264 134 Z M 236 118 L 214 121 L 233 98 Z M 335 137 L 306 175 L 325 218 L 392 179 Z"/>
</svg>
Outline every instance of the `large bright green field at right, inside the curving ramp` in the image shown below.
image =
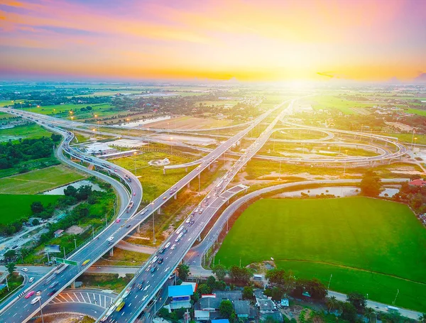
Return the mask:
<svg viewBox="0 0 426 323">
<path fill-rule="evenodd" d="M 261 217 L 261 218 L 260 218 Z M 259 225 L 261 223 L 261 226 Z M 273 257 L 297 277 L 340 292 L 426 310 L 426 229 L 410 209 L 366 197 L 261 199 L 244 211 L 216 261 L 226 266 Z M 423 295 L 423 296 L 422 296 Z"/>
</svg>

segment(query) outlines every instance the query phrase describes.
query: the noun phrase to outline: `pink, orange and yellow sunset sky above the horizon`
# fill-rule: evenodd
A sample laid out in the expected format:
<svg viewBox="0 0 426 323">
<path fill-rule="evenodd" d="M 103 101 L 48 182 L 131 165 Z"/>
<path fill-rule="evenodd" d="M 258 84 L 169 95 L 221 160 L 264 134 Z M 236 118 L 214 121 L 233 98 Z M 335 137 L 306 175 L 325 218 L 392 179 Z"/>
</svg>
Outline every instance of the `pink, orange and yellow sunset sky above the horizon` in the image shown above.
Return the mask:
<svg viewBox="0 0 426 323">
<path fill-rule="evenodd" d="M 408 82 L 425 16 L 423 0 L 0 0 L 0 75 Z"/>
</svg>

